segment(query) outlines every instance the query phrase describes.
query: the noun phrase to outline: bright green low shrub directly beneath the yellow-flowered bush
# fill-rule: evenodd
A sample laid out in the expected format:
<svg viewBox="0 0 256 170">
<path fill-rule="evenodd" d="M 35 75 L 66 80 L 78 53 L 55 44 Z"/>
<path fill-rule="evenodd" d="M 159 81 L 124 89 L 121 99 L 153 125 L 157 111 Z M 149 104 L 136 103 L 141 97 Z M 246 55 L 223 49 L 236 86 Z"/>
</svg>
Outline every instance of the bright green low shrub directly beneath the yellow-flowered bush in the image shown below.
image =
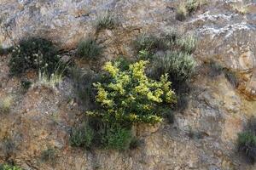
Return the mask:
<svg viewBox="0 0 256 170">
<path fill-rule="evenodd" d="M 108 150 L 128 150 L 131 144 L 131 129 L 113 124 L 106 128 L 102 143 Z"/>
</svg>

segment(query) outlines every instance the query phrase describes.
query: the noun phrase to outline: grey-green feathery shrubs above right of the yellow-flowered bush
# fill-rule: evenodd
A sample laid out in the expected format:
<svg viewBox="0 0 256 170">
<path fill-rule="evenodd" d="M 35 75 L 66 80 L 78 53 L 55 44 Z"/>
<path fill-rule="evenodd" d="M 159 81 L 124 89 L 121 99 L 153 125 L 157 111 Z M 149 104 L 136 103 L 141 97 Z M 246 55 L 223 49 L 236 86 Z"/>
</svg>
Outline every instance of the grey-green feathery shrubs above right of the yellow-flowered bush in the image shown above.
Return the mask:
<svg viewBox="0 0 256 170">
<path fill-rule="evenodd" d="M 196 48 L 196 38 L 192 35 L 180 36 L 175 32 L 159 37 L 143 34 L 135 41 L 135 48 L 138 59 L 150 60 L 147 69 L 149 77 L 159 80 L 161 75 L 168 74 L 168 81 L 172 82 L 177 94 L 175 109 L 183 111 L 189 102 L 187 83 L 195 73 L 192 53 Z M 170 122 L 173 122 L 173 115 L 169 115 Z"/>
</svg>

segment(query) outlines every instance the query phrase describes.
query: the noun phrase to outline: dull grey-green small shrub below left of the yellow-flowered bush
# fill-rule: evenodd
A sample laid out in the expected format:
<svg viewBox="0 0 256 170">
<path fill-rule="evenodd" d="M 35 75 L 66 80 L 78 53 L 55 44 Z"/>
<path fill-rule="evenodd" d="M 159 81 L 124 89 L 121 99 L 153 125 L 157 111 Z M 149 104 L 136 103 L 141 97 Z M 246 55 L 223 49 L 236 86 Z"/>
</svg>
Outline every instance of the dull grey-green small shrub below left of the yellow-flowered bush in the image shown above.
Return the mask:
<svg viewBox="0 0 256 170">
<path fill-rule="evenodd" d="M 88 122 L 83 122 L 79 127 L 73 128 L 70 134 L 70 144 L 76 147 L 90 149 L 94 139 L 94 130 Z"/>
</svg>

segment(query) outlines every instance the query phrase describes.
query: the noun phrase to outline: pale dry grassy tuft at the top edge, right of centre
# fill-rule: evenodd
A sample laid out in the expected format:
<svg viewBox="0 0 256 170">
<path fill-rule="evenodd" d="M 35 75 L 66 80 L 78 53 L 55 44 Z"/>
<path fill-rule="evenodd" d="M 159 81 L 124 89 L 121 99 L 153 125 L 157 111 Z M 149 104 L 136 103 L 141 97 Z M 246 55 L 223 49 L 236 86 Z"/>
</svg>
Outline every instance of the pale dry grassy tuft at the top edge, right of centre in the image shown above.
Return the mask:
<svg viewBox="0 0 256 170">
<path fill-rule="evenodd" d="M 177 7 L 177 20 L 185 20 L 189 14 L 207 4 L 207 0 L 183 0 Z"/>
</svg>

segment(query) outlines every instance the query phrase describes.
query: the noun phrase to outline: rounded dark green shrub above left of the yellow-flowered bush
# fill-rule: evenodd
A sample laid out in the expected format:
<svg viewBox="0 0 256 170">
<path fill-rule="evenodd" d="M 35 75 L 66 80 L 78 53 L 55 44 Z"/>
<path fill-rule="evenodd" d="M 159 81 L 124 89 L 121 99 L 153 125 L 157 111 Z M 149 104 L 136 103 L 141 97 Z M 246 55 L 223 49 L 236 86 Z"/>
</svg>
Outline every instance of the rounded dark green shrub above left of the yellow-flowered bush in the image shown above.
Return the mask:
<svg viewBox="0 0 256 170">
<path fill-rule="evenodd" d="M 102 55 L 102 47 L 96 42 L 96 39 L 88 37 L 79 42 L 78 55 L 83 59 L 97 59 Z"/>
</svg>

